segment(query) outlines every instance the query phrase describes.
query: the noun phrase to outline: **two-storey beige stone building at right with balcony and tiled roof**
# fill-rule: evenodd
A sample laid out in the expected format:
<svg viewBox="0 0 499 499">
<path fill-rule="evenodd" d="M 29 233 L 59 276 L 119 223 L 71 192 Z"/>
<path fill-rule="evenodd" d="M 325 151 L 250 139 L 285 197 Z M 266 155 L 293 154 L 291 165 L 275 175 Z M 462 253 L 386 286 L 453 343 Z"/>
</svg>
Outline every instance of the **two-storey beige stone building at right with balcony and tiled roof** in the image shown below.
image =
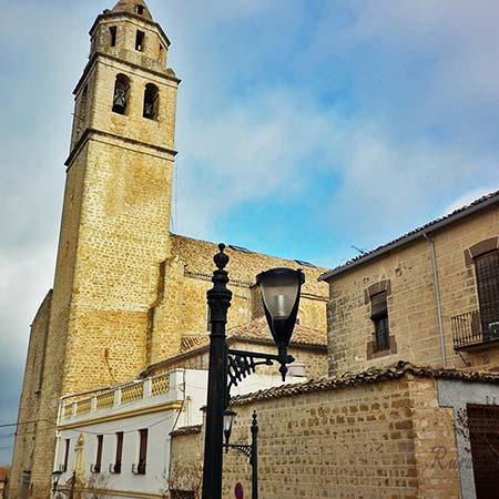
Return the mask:
<svg viewBox="0 0 499 499">
<path fill-rule="evenodd" d="M 320 279 L 330 374 L 397 360 L 499 370 L 499 192 Z"/>
</svg>

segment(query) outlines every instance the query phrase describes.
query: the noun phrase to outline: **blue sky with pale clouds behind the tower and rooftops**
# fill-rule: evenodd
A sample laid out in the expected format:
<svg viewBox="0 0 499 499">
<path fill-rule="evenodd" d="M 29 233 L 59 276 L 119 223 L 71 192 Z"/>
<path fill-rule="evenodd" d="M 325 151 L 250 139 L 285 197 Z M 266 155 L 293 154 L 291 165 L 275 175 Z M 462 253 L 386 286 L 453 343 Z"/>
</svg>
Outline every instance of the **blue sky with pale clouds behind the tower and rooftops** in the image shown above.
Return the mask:
<svg viewBox="0 0 499 499">
<path fill-rule="evenodd" d="M 52 286 L 71 92 L 114 2 L 3 3 L 0 425 Z M 499 189 L 497 0 L 147 4 L 183 80 L 174 232 L 333 267 Z"/>
</svg>

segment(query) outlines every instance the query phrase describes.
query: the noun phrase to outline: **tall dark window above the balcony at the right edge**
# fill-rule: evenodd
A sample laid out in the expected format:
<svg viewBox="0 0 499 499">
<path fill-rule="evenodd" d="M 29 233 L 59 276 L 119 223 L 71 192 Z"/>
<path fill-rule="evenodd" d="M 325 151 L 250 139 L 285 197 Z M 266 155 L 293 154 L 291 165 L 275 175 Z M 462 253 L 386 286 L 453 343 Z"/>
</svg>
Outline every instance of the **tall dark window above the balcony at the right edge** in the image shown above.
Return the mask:
<svg viewBox="0 0 499 499">
<path fill-rule="evenodd" d="M 482 330 L 499 330 L 499 252 L 475 257 L 475 269 Z"/>
</svg>

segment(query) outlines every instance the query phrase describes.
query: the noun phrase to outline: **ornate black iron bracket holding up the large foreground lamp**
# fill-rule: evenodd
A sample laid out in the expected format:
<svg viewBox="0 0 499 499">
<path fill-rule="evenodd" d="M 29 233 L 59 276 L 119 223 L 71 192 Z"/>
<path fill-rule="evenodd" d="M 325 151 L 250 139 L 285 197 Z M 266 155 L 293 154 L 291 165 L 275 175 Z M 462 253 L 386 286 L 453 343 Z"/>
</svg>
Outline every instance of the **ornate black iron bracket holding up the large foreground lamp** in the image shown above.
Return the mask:
<svg viewBox="0 0 499 499">
<path fill-rule="evenodd" d="M 227 348 L 227 405 L 233 386 L 237 386 L 244 378 L 255 373 L 256 366 L 272 366 L 274 361 L 285 365 L 294 363 L 295 358 L 292 355 L 286 355 L 283 358 L 279 355 Z"/>
</svg>

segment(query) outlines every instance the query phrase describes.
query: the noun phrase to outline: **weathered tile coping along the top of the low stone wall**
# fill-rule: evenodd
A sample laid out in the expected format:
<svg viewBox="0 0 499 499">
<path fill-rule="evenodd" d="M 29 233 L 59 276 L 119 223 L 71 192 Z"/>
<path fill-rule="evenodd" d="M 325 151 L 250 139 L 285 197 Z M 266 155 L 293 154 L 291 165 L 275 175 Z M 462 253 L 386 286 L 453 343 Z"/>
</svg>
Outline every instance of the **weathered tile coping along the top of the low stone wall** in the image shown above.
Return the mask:
<svg viewBox="0 0 499 499">
<path fill-rule="evenodd" d="M 481 381 L 499 385 L 499 373 L 465 371 L 460 369 L 444 369 L 431 366 L 415 366 L 410 363 L 400 360 L 396 365 L 383 369 L 370 368 L 358 374 L 345 373 L 342 376 L 310 379 L 305 383 L 284 385 L 281 387 L 255 391 L 248 395 L 241 395 L 233 397 L 231 399 L 231 405 L 242 406 L 258 400 L 293 397 L 294 395 L 327 391 L 336 388 L 379 383 L 389 379 L 400 379 L 408 374 L 420 378 L 456 379 L 461 381 Z"/>
</svg>

